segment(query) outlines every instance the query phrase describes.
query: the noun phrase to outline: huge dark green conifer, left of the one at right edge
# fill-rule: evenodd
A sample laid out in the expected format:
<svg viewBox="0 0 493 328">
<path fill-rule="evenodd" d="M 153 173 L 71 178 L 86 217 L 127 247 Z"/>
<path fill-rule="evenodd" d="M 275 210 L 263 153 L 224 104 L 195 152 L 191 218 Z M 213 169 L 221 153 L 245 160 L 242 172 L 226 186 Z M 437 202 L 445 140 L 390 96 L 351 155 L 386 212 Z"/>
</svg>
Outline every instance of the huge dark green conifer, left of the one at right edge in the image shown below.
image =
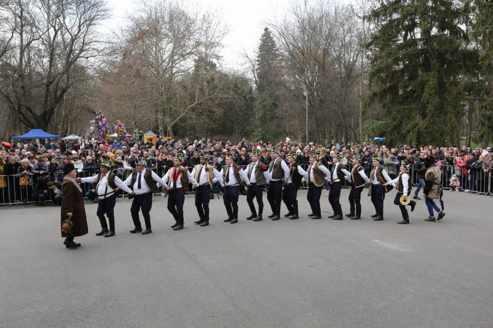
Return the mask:
<svg viewBox="0 0 493 328">
<path fill-rule="evenodd" d="M 382 0 L 367 19 L 376 30 L 367 45 L 371 97 L 388 115 L 378 127 L 389 142 L 450 142 L 464 106 L 461 79 L 475 54 L 461 6 L 450 0 Z"/>
</svg>

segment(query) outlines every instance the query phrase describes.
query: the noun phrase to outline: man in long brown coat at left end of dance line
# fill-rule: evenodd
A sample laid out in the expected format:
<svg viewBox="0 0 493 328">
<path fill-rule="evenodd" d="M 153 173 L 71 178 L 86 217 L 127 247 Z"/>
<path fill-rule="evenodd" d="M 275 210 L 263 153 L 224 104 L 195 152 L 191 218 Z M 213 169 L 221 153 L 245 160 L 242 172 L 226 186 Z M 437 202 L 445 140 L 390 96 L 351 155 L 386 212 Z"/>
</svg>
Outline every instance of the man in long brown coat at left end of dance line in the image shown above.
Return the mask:
<svg viewBox="0 0 493 328">
<path fill-rule="evenodd" d="M 84 209 L 84 199 L 82 196 L 82 189 L 77 184 L 75 176 L 74 166 L 68 163 L 63 168 L 63 172 L 66 176 L 63 179 L 62 184 L 62 210 L 60 224 L 62 226 L 63 221 L 69 219 L 73 222 L 73 227 L 68 231 L 62 231 L 62 237 L 65 237 L 63 244 L 66 248 L 78 248 L 80 243 L 73 241 L 74 237 L 84 236 L 88 233 L 86 210 Z"/>
</svg>

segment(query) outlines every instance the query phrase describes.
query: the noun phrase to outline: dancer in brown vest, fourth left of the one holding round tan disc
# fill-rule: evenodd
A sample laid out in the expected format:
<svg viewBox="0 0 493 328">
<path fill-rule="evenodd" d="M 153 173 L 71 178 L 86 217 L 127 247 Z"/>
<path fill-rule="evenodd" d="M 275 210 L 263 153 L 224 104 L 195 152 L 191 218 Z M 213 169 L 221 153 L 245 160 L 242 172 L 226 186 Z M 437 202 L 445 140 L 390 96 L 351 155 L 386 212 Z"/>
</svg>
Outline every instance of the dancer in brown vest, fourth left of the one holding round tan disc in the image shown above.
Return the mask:
<svg viewBox="0 0 493 328">
<path fill-rule="evenodd" d="M 320 195 L 324 188 L 324 183 L 327 177 L 330 178 L 330 171 L 324 165 L 320 165 L 318 162 L 320 155 L 317 153 L 311 153 L 308 161 L 310 165 L 307 169 L 308 175 L 308 194 L 307 199 L 312 213 L 308 216 L 312 219 L 321 219 L 322 213 L 320 210 Z M 304 180 L 302 180 L 304 181 Z"/>
</svg>

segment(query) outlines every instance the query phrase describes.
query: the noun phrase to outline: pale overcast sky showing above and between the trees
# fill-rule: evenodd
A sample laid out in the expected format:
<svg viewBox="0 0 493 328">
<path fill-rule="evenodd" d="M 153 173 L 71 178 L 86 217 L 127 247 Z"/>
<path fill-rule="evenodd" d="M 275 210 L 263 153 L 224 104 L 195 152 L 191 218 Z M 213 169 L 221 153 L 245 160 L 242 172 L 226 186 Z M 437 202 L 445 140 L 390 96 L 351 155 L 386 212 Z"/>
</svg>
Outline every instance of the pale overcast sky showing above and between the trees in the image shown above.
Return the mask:
<svg viewBox="0 0 493 328">
<path fill-rule="evenodd" d="M 121 24 L 126 11 L 136 8 L 138 0 L 108 0 L 113 8 L 113 16 L 107 26 L 109 28 Z M 224 39 L 224 56 L 222 66 L 237 69 L 242 64 L 240 52 L 243 48 L 249 53 L 258 45 L 264 25 L 262 21 L 278 13 L 283 13 L 289 6 L 288 0 L 200 0 L 203 9 L 217 8 L 224 13 L 225 23 L 230 33 Z"/>
</svg>

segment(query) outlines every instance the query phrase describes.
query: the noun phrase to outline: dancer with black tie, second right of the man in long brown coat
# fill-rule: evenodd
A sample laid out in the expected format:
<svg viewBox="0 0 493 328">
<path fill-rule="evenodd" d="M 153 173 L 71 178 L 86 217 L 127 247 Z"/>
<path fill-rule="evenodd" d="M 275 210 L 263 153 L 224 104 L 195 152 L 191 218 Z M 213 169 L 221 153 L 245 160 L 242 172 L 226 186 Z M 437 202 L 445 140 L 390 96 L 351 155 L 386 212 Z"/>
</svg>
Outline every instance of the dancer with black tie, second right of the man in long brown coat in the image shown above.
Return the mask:
<svg viewBox="0 0 493 328">
<path fill-rule="evenodd" d="M 153 193 L 159 193 L 159 186 L 166 187 L 166 182 L 163 179 L 155 172 L 145 168 L 146 162 L 144 157 L 135 158 L 136 170 L 123 181 L 131 189 L 129 198 L 132 197 L 134 199 L 130 207 L 130 213 L 135 226 L 134 230 L 130 230 L 132 234 L 142 231 L 139 218 L 140 210 L 142 210 L 142 216 L 145 222 L 145 230 L 142 231 L 142 234 L 147 235 L 153 232 L 150 226 L 149 214 L 150 209 L 153 207 Z"/>
</svg>

